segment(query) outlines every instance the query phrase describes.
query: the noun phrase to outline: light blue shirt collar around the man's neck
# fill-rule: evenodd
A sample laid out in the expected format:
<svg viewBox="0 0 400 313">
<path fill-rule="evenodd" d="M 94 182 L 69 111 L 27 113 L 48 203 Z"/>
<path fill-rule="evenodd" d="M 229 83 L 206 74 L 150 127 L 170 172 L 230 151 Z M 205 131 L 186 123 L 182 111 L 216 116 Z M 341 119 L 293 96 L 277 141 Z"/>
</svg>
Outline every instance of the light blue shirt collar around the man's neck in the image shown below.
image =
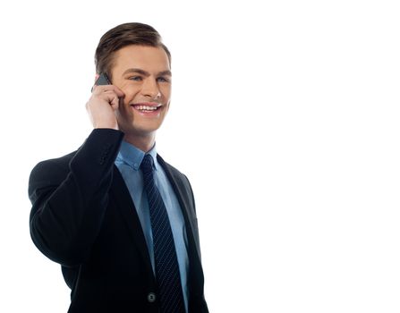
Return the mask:
<svg viewBox="0 0 400 313">
<path fill-rule="evenodd" d="M 148 153 L 144 153 L 140 150 L 140 148 L 136 148 L 132 144 L 123 141 L 121 143 L 118 156 L 116 157 L 116 161 L 130 165 L 135 171 L 139 171 L 141 161 L 146 154 L 153 157 L 154 167 L 156 170 L 158 170 L 159 165 L 157 162 L 156 144 L 154 144 L 153 148 L 151 148 Z"/>
</svg>

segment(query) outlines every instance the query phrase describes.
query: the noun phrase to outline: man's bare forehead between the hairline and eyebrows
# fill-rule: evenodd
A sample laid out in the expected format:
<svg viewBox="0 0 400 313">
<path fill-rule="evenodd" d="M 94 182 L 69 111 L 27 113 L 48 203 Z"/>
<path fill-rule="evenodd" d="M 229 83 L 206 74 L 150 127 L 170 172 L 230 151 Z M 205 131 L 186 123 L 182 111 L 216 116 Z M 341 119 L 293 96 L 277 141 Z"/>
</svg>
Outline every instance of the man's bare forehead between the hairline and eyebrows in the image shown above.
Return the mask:
<svg viewBox="0 0 400 313">
<path fill-rule="evenodd" d="M 113 71 L 140 68 L 148 72 L 170 70 L 168 56 L 162 47 L 131 45 L 115 51 Z"/>
</svg>

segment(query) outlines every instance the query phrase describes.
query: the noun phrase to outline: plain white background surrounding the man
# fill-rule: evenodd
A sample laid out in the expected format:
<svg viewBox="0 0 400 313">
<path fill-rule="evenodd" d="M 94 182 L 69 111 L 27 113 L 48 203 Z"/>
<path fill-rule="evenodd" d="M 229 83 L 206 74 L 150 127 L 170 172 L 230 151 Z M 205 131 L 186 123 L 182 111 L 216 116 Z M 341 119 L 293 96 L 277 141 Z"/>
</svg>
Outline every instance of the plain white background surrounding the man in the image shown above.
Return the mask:
<svg viewBox="0 0 400 313">
<path fill-rule="evenodd" d="M 0 4 L 1 312 L 66 312 L 31 168 L 78 148 L 106 30 L 173 55 L 158 152 L 191 179 L 211 312 L 400 311 L 396 1 Z"/>
</svg>

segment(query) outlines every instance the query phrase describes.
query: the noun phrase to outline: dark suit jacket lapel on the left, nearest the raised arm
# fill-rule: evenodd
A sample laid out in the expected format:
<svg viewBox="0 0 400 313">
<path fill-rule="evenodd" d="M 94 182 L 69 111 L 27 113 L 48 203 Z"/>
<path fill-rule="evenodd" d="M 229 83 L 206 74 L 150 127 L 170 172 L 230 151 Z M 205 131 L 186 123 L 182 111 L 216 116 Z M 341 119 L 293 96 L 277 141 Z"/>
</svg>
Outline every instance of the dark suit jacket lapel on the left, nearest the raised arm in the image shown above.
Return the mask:
<svg viewBox="0 0 400 313">
<path fill-rule="evenodd" d="M 131 194 L 126 187 L 125 182 L 123 182 L 123 177 L 116 166 L 114 166 L 114 179 L 111 184 L 111 190 L 115 195 L 115 200 L 121 214 L 123 215 L 123 220 L 126 222 L 126 226 L 132 234 L 132 240 L 139 247 L 141 258 L 146 266 L 146 270 L 154 277 L 149 257 L 149 249 L 141 228 L 139 216 L 136 213 L 136 207 L 133 204 Z"/>
</svg>

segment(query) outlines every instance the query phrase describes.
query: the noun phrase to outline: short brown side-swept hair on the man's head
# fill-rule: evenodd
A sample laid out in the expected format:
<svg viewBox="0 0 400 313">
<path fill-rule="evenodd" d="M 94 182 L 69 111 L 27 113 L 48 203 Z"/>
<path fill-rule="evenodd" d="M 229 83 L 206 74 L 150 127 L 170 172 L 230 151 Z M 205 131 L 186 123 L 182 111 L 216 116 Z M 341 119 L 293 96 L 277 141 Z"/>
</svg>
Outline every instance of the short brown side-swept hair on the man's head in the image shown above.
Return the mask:
<svg viewBox="0 0 400 313">
<path fill-rule="evenodd" d="M 108 30 L 98 42 L 95 53 L 96 72 L 105 72 L 111 79 L 115 51 L 130 45 L 162 47 L 171 64 L 171 54 L 162 43 L 157 30 L 147 24 L 138 22 L 124 23 Z"/>
</svg>

